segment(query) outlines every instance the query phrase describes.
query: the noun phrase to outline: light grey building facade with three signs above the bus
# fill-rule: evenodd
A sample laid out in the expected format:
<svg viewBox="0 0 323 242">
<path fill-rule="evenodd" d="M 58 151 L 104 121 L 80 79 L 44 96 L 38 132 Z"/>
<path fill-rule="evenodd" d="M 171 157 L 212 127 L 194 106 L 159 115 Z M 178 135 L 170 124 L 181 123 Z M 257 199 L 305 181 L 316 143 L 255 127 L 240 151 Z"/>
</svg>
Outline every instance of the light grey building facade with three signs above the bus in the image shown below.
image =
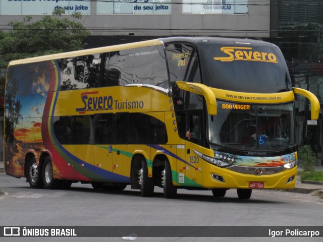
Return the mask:
<svg viewBox="0 0 323 242">
<path fill-rule="evenodd" d="M 248 3 L 250 2 L 250 3 Z M 270 1 L 253 0 L 0 0 L 3 25 L 31 15 L 39 20 L 55 8 L 82 13 L 95 36 L 226 35 L 269 37 Z"/>
</svg>

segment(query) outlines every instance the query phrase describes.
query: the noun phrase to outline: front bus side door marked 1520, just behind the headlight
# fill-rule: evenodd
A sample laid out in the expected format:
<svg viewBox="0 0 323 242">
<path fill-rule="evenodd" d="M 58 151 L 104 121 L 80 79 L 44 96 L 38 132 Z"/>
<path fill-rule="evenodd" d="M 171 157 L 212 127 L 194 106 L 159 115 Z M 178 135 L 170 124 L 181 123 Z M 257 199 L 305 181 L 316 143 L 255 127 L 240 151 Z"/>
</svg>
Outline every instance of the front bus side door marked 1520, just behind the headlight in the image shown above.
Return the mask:
<svg viewBox="0 0 323 242">
<path fill-rule="evenodd" d="M 186 132 L 186 186 L 203 186 L 203 161 L 194 152 L 203 153 L 202 110 L 187 110 Z"/>
</svg>

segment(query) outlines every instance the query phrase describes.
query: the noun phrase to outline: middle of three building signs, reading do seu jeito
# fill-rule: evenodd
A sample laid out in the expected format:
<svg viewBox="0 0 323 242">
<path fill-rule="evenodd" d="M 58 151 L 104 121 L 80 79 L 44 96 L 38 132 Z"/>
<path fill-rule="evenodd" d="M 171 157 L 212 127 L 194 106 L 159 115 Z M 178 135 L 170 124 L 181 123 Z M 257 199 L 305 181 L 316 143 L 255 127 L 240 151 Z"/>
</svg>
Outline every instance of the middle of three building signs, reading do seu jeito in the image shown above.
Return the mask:
<svg viewBox="0 0 323 242">
<path fill-rule="evenodd" d="M 102 0 L 96 14 L 171 14 L 172 0 Z"/>
</svg>

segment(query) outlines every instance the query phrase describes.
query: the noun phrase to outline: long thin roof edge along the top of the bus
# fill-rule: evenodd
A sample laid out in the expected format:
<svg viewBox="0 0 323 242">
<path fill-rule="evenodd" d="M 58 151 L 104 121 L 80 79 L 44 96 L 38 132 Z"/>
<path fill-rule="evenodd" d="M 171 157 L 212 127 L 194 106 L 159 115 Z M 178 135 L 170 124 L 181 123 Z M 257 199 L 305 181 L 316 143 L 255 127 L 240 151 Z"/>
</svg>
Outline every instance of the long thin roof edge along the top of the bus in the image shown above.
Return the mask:
<svg viewBox="0 0 323 242">
<path fill-rule="evenodd" d="M 111 45 L 111 46 L 104 46 L 98 48 L 91 48 L 91 49 L 82 49 L 64 53 L 57 53 L 57 54 L 49 54 L 49 55 L 42 55 L 37 57 L 25 58 L 25 59 L 17 59 L 15 61 L 11 61 L 8 65 L 16 66 L 21 64 L 27 63 L 35 63 L 35 62 L 42 62 L 42 61 L 50 61 L 52 59 L 59 59 L 59 58 L 68 58 L 74 56 L 81 56 L 81 55 L 88 55 L 88 54 L 96 54 L 96 53 L 104 53 L 104 52 L 111 52 L 111 51 L 118 51 L 124 50 L 129 48 L 140 48 L 145 46 L 153 46 L 163 43 L 172 43 L 172 42 L 188 42 L 192 44 L 197 44 L 199 42 L 209 42 L 215 44 L 247 44 L 247 45 L 258 45 L 258 46 L 275 46 L 272 43 L 253 40 L 253 39 L 239 39 L 239 38 L 224 38 L 224 37 L 203 37 L 203 36 L 195 36 L 195 37 L 166 37 L 166 38 L 158 38 L 134 43 L 127 43 L 127 44 L 119 44 L 119 45 Z"/>
</svg>

